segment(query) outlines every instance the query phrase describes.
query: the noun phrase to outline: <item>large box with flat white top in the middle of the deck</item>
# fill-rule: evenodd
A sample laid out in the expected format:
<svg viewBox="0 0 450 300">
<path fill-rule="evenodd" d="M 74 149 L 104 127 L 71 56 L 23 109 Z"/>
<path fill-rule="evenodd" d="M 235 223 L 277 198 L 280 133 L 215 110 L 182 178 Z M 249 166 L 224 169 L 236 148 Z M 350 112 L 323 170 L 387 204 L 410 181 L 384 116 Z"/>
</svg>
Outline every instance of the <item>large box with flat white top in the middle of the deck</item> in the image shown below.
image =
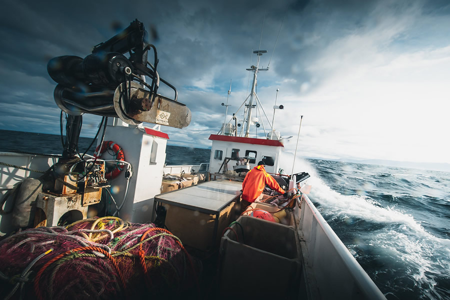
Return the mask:
<svg viewBox="0 0 450 300">
<path fill-rule="evenodd" d="M 241 182 L 207 181 L 156 195 L 153 207 L 166 209 L 160 214 L 165 215 L 164 226 L 184 245 L 210 253 L 217 249 L 223 229 L 235 219 L 241 188 Z"/>
</svg>

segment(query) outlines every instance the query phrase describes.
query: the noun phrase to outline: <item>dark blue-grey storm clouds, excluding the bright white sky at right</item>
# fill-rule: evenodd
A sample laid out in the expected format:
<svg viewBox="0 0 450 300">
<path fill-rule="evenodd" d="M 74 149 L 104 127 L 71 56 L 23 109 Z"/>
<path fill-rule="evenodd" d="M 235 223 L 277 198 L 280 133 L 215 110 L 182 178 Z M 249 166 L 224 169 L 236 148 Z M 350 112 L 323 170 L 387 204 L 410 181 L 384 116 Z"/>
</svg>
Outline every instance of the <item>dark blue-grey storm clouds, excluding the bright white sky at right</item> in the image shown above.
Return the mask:
<svg viewBox="0 0 450 300">
<path fill-rule="evenodd" d="M 220 127 L 224 113 L 220 102 L 226 100 L 231 78 L 232 96 L 242 95 L 242 99 L 231 98 L 233 105 L 240 105 L 245 98 L 245 68 L 251 49 L 259 46 L 263 19 L 261 48 L 268 51 L 261 57 L 263 66 L 272 55 L 284 21 L 270 71 L 260 75 L 259 86 L 284 82 L 286 93 L 301 93 L 317 88 L 327 76 L 308 69 L 321 49 L 348 32 L 371 26 L 387 11 L 394 13 L 409 5 L 409 1 L 384 2 L 383 6 L 375 0 L 4 0 L 0 12 L 0 128 L 7 129 L 22 112 L 26 114 L 24 130 L 57 133 L 59 114 L 52 95 L 56 84 L 46 72 L 48 59 L 58 55 L 84 57 L 94 45 L 137 18 L 147 31 L 154 31 L 150 38 L 157 37 L 151 41 L 158 49 L 160 76 L 178 88 L 179 101 L 188 105 L 193 117 L 200 118 L 193 118 L 191 129 L 179 134 L 195 132 L 204 137 L 208 132 L 202 127 Z M 442 7 L 448 9 L 444 1 L 431 2 L 427 13 L 442 11 Z M 255 63 L 254 56 L 251 63 Z M 309 89 L 300 91 L 304 82 Z M 169 97 L 173 94 L 162 84 L 160 91 Z M 272 95 L 267 97 L 271 101 Z M 13 103 L 20 105 L 7 108 Z M 229 114 L 237 107 L 232 108 Z M 98 118 L 85 119 L 94 122 Z M 93 133 L 96 127 L 84 130 Z"/>
</svg>

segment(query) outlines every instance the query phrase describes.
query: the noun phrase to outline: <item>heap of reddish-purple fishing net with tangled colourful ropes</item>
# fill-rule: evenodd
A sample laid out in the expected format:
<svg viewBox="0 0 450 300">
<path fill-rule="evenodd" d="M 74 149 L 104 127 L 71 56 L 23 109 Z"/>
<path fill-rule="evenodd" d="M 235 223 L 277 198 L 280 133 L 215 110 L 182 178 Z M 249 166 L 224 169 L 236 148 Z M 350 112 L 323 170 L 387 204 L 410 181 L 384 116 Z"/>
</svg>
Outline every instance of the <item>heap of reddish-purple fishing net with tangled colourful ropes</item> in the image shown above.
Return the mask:
<svg viewBox="0 0 450 300">
<path fill-rule="evenodd" d="M 26 229 L 0 241 L 5 299 L 176 298 L 195 293 L 195 269 L 169 231 L 116 217 Z"/>
</svg>

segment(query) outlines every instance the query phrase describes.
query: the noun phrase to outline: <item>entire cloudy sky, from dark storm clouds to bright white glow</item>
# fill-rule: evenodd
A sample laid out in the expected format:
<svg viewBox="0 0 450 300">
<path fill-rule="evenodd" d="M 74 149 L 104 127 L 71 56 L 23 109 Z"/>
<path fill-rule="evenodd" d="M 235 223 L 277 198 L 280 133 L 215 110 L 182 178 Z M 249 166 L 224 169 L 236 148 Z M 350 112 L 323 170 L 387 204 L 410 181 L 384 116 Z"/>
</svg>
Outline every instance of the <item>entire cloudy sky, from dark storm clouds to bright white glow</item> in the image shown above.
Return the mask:
<svg viewBox="0 0 450 300">
<path fill-rule="evenodd" d="M 284 19 L 257 92 L 271 120 L 279 88 L 275 127 L 294 136 L 286 149 L 304 115 L 304 156 L 450 163 L 447 0 L 1 2 L 0 129 L 57 134 L 48 59 L 84 57 L 117 33 L 113 24 L 137 18 L 157 32 L 159 74 L 192 111 L 187 128 L 163 127 L 169 143 L 207 147 L 230 79 L 229 114 L 248 93 L 262 24 L 266 66 Z M 81 134 L 93 136 L 99 120 L 85 115 Z"/>
</svg>

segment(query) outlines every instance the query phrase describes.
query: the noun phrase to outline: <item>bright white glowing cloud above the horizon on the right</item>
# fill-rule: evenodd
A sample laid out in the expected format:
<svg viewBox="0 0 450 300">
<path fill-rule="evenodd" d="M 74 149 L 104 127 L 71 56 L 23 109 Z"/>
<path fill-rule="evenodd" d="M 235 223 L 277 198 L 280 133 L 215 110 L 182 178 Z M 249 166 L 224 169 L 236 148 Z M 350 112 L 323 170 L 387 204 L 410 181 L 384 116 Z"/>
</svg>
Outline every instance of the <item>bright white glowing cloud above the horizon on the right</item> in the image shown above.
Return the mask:
<svg viewBox="0 0 450 300">
<path fill-rule="evenodd" d="M 302 132 L 307 135 L 308 128 L 319 132 L 304 144 L 324 147 L 314 149 L 321 157 L 450 162 L 445 138 L 450 111 L 450 88 L 445 81 L 450 74 L 441 71 L 450 69 L 449 50 L 399 55 L 364 72 L 337 74 L 299 97 L 300 109 L 290 110 L 290 118 L 304 114 Z M 293 106 L 295 101 L 288 103 Z M 314 152 L 305 155 L 314 156 Z"/>
</svg>

